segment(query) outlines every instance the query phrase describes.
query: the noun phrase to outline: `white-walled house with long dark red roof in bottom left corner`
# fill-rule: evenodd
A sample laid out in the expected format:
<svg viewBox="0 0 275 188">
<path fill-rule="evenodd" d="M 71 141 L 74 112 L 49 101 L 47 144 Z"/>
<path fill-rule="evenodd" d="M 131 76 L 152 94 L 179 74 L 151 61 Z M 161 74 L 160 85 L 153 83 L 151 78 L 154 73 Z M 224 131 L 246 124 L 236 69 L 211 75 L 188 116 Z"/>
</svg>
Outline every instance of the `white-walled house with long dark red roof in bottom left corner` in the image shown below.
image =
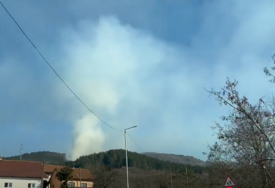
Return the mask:
<svg viewBox="0 0 275 188">
<path fill-rule="evenodd" d="M 43 164 L 0 159 L 0 188 L 43 188 Z"/>
</svg>

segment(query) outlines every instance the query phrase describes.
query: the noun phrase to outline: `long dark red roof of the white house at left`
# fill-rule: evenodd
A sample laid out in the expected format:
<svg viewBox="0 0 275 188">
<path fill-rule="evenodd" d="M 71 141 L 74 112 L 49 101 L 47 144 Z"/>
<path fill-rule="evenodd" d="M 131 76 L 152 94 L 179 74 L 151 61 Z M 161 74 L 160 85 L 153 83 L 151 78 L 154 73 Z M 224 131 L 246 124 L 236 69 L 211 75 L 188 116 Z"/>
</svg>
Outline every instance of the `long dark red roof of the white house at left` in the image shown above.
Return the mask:
<svg viewBox="0 0 275 188">
<path fill-rule="evenodd" d="M 46 174 L 43 164 L 30 161 L 7 161 L 0 160 L 0 177 L 39 178 Z"/>
</svg>

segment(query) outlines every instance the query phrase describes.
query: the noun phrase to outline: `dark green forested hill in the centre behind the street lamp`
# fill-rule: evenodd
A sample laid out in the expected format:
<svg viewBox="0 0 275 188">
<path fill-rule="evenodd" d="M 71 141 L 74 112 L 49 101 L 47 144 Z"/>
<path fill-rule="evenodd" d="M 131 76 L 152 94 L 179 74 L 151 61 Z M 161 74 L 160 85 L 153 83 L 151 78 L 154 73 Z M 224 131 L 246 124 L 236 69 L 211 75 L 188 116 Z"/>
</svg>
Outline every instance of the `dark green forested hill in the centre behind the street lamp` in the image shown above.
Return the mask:
<svg viewBox="0 0 275 188">
<path fill-rule="evenodd" d="M 125 166 L 125 150 L 109 150 L 87 156 L 82 156 L 75 161 L 67 161 L 66 165 L 71 167 L 86 168 L 87 166 L 97 165 L 99 162 L 112 168 Z M 184 169 L 187 165 L 168 161 L 161 161 L 144 154 L 128 152 L 128 166 L 146 170 L 172 170 L 174 172 Z M 192 166 L 194 172 L 201 173 L 204 167 Z"/>
</svg>

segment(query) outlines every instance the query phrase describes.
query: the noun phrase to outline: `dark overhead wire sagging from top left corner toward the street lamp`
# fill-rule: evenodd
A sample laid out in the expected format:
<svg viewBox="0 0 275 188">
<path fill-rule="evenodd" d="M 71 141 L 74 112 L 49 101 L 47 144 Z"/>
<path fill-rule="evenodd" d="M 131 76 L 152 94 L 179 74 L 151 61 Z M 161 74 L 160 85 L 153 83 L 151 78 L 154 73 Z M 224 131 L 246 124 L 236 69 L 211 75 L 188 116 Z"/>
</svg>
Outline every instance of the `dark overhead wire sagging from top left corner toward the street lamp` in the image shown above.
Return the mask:
<svg viewBox="0 0 275 188">
<path fill-rule="evenodd" d="M 90 111 L 97 119 L 99 119 L 102 123 L 107 125 L 108 127 L 116 130 L 115 127 L 109 125 L 107 122 L 105 122 L 103 119 L 101 119 L 98 115 L 96 115 L 78 96 L 77 94 L 69 87 L 69 85 L 62 79 L 62 77 L 56 72 L 56 70 L 53 68 L 53 66 L 48 62 L 48 60 L 43 56 L 43 54 L 38 50 L 38 48 L 34 45 L 34 43 L 31 41 L 31 39 L 28 37 L 28 35 L 24 32 L 24 30 L 20 27 L 20 25 L 17 23 L 17 21 L 13 18 L 13 16 L 10 14 L 10 12 L 6 9 L 6 7 L 3 5 L 3 3 L 0 1 L 0 4 L 5 9 L 5 11 L 8 13 L 10 18 L 14 21 L 14 23 L 17 25 L 17 27 L 20 29 L 20 31 L 24 34 L 24 36 L 28 39 L 28 41 L 31 43 L 31 45 L 34 47 L 34 49 L 39 53 L 39 55 L 42 57 L 42 59 L 47 63 L 47 65 L 52 69 L 52 71 L 56 74 L 56 76 L 61 80 L 61 82 L 69 89 L 69 91 L 79 100 L 79 102 L 86 108 L 88 111 Z"/>
</svg>

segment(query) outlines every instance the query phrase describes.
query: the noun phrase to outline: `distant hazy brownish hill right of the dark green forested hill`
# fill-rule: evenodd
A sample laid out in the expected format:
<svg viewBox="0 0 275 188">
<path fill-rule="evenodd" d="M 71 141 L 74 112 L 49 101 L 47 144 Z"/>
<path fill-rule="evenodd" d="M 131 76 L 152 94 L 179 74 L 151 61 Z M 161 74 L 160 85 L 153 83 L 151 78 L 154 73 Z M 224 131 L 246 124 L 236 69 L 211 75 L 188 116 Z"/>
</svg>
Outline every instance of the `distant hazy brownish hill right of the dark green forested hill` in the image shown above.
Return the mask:
<svg viewBox="0 0 275 188">
<path fill-rule="evenodd" d="M 146 152 L 144 155 L 152 158 L 156 158 L 162 161 L 170 161 L 174 163 L 187 164 L 192 166 L 205 166 L 206 163 L 202 160 L 196 159 L 192 156 L 184 156 L 184 155 L 175 155 L 175 154 L 166 154 L 166 153 L 153 153 Z"/>
</svg>

